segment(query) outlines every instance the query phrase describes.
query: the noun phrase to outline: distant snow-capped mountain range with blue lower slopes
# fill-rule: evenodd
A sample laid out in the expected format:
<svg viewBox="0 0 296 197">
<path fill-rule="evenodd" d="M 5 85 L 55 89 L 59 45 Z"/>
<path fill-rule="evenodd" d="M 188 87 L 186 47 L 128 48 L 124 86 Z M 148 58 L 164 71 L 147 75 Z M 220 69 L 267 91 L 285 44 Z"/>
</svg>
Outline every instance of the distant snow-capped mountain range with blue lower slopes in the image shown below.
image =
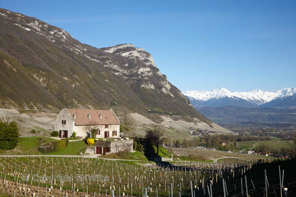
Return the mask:
<svg viewBox="0 0 296 197">
<path fill-rule="evenodd" d="M 284 88 L 275 92 L 261 90 L 253 90 L 250 92 L 230 92 L 225 88 L 221 88 L 208 92 L 185 91 L 183 94 L 195 107 L 296 107 L 296 88 Z"/>
</svg>

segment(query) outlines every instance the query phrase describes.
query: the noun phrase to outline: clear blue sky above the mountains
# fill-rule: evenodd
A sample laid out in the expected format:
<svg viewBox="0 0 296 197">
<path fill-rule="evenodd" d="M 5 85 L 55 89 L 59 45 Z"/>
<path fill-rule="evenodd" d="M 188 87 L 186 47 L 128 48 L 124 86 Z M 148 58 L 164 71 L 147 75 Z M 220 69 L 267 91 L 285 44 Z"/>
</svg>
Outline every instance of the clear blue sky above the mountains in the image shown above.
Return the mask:
<svg viewBox="0 0 296 197">
<path fill-rule="evenodd" d="M 296 87 L 295 0 L 6 0 L 97 48 L 132 43 L 181 91 Z"/>
</svg>

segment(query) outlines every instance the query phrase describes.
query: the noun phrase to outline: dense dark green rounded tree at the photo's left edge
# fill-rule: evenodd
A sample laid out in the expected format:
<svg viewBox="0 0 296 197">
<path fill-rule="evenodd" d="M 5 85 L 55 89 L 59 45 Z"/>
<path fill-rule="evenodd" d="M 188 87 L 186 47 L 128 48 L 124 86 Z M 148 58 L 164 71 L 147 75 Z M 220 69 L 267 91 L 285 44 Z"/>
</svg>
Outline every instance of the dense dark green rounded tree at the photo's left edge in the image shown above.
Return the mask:
<svg viewBox="0 0 296 197">
<path fill-rule="evenodd" d="M 0 119 L 0 149 L 11 150 L 17 145 L 18 125 L 15 121 Z"/>
</svg>

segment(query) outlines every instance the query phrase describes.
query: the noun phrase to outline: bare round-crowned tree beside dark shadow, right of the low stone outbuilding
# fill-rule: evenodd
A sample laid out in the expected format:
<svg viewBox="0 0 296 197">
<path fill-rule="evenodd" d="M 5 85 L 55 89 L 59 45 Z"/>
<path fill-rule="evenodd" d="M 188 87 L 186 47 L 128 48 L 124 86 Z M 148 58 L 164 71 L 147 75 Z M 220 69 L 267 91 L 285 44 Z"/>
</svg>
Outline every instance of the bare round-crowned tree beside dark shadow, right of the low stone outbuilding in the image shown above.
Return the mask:
<svg viewBox="0 0 296 197">
<path fill-rule="evenodd" d="M 146 138 L 150 139 L 156 146 L 156 154 L 158 155 L 159 144 L 164 137 L 164 127 L 160 124 L 151 125 L 151 129 L 146 131 Z"/>
</svg>

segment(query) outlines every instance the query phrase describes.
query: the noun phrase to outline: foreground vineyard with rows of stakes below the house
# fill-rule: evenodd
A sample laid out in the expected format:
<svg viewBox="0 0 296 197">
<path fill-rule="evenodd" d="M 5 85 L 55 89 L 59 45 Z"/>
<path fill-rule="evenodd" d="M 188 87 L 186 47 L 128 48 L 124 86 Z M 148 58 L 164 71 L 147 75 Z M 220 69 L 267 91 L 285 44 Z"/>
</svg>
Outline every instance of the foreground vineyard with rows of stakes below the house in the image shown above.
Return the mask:
<svg viewBox="0 0 296 197">
<path fill-rule="evenodd" d="M 276 167 L 269 166 L 272 164 Z M 283 185 L 289 190 L 296 186 L 292 182 L 296 172 L 289 167 L 293 164 L 291 161 L 281 162 L 285 169 L 285 173 L 281 172 Z M 265 165 L 270 167 L 266 168 L 266 176 Z M 263 160 L 256 163 L 202 164 L 132 163 L 52 156 L 1 157 L 0 191 L 11 197 L 223 197 L 246 196 L 247 193 L 263 196 L 267 180 L 267 193 L 272 197 L 274 193 L 280 194 L 277 166 L 276 163 L 263 164 Z M 71 175 L 73 180 L 69 178 Z M 76 180 L 78 175 L 87 176 L 79 181 Z M 96 175 L 100 179 L 95 178 Z M 63 182 L 62 176 L 68 178 Z M 36 180 L 36 177 L 39 179 Z M 55 180 L 49 182 L 44 177 L 55 177 Z M 102 180 L 101 177 L 108 177 L 109 180 Z M 292 194 L 296 194 L 295 191 Z"/>
</svg>

